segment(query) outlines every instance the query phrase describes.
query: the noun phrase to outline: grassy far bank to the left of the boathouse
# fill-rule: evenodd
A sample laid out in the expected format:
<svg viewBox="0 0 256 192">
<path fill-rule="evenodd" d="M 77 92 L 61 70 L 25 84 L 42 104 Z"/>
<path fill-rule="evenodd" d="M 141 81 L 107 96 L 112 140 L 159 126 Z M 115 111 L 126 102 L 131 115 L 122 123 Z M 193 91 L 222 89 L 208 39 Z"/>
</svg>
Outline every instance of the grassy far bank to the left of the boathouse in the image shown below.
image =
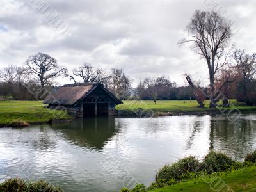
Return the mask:
<svg viewBox="0 0 256 192">
<path fill-rule="evenodd" d="M 0 101 L 0 127 L 70 120 L 63 111 L 45 109 L 40 101 Z"/>
</svg>

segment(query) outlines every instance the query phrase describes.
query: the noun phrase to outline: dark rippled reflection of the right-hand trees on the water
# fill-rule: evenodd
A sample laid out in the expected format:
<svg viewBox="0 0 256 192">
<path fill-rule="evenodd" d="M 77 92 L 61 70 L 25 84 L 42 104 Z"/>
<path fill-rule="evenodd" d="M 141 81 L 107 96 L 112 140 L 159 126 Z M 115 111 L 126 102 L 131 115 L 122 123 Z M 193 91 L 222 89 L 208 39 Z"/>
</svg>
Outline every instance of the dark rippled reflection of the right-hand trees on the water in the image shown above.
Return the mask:
<svg viewBox="0 0 256 192">
<path fill-rule="evenodd" d="M 209 149 L 221 150 L 237 160 L 255 150 L 255 115 L 242 115 L 236 122 L 221 116 L 212 117 Z"/>
</svg>

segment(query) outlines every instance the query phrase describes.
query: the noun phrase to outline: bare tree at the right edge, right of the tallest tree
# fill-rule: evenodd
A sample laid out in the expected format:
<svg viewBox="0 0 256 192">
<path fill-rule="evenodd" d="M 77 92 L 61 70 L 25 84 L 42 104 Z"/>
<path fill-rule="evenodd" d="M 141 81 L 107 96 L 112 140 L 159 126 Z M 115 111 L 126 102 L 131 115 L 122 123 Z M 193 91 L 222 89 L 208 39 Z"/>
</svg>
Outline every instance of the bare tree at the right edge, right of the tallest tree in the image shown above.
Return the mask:
<svg viewBox="0 0 256 192">
<path fill-rule="evenodd" d="M 256 73 L 256 53 L 246 54 L 244 50 L 236 49 L 233 53 L 237 74 L 242 77 L 243 96 L 247 96 L 248 80 L 252 79 Z"/>
</svg>

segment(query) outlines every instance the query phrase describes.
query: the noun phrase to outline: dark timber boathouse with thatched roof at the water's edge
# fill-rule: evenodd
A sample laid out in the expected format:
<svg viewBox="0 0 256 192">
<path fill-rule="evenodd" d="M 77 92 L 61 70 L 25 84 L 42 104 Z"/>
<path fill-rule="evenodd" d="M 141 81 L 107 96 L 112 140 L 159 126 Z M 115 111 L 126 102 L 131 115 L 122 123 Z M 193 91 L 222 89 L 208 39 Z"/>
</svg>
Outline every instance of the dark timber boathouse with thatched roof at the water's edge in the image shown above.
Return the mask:
<svg viewBox="0 0 256 192">
<path fill-rule="evenodd" d="M 116 115 L 115 106 L 122 101 L 101 83 L 66 84 L 44 100 L 49 108 L 64 107 L 77 117 Z"/>
</svg>

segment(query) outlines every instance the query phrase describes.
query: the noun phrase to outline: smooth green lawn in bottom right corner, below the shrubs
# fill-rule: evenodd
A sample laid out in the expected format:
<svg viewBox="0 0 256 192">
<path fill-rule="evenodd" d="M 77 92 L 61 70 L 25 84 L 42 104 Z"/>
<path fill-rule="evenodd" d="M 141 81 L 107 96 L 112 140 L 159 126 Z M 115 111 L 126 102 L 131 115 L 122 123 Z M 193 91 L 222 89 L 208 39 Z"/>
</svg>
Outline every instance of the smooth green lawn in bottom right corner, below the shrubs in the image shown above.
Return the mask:
<svg viewBox="0 0 256 192">
<path fill-rule="evenodd" d="M 223 186 L 223 188 L 221 188 Z M 218 190 L 220 189 L 220 190 Z M 154 189 L 151 192 L 175 192 L 175 191 L 256 191 L 256 166 L 224 173 L 219 177 L 193 179 L 181 182 L 173 186 Z M 228 192 L 231 192 L 229 190 Z"/>
</svg>

